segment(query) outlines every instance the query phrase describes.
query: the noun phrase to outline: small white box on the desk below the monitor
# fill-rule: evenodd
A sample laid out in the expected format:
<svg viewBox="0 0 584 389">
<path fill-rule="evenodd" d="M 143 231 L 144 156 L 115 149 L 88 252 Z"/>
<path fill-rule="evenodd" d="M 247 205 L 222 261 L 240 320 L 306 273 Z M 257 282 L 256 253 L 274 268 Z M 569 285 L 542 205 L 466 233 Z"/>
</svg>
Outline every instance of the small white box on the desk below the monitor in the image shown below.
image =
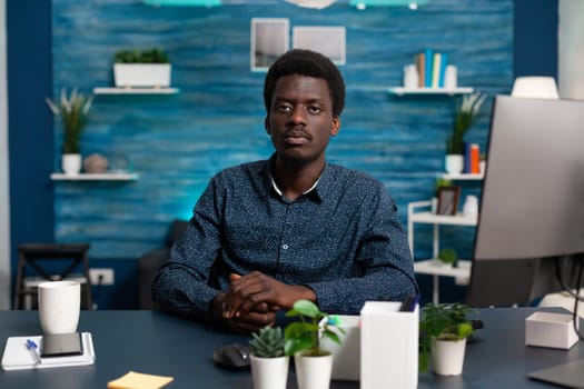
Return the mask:
<svg viewBox="0 0 584 389">
<path fill-rule="evenodd" d="M 571 313 L 535 312 L 525 319 L 525 346 L 567 350 L 577 341 Z"/>
</svg>

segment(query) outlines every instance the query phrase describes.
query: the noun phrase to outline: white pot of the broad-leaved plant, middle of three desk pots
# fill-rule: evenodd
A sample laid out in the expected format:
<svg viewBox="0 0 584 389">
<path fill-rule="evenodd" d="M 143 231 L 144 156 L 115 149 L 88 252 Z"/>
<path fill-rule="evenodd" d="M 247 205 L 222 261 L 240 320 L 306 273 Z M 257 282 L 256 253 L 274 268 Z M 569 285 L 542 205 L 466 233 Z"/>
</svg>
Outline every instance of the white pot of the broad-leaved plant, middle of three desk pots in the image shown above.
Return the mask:
<svg viewBox="0 0 584 389">
<path fill-rule="evenodd" d="M 333 355 L 310 357 L 294 356 L 298 389 L 328 389 L 333 371 Z"/>
</svg>

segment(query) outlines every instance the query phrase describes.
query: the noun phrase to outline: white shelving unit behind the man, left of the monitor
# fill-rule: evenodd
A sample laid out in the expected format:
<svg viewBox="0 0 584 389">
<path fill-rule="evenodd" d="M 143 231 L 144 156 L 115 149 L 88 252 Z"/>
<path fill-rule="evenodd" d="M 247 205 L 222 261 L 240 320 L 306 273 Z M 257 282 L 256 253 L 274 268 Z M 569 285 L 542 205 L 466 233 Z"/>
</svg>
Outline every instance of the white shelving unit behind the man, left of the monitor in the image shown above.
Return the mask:
<svg viewBox="0 0 584 389">
<path fill-rule="evenodd" d="M 467 226 L 474 227 L 477 223 L 477 217 L 467 217 L 462 213 L 455 216 L 436 215 L 432 212 L 432 201 L 416 201 L 407 206 L 407 239 L 412 256 L 414 252 L 414 226 L 425 223 L 433 226 L 433 245 L 432 258 L 422 259 L 414 262 L 414 271 L 420 275 L 432 275 L 433 280 L 433 302 L 439 301 L 439 280 L 438 277 L 454 277 L 457 285 L 468 285 L 471 279 L 471 260 L 458 259 L 458 266 L 444 263 L 438 259 L 441 226 Z"/>
</svg>

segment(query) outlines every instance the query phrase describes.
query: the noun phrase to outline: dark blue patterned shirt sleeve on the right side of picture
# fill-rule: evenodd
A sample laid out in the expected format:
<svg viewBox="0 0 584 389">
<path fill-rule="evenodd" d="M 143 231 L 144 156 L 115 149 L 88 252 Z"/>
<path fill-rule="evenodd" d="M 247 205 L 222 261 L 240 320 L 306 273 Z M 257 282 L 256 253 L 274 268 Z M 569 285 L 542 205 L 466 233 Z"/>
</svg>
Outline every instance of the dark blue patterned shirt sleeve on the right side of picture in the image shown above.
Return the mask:
<svg viewBox="0 0 584 389">
<path fill-rule="evenodd" d="M 396 301 L 418 293 L 412 252 L 395 201 L 382 184 L 365 201 L 363 209 L 370 212 L 364 218 L 368 227 L 354 258 L 355 276 L 307 285 L 325 312 L 355 315 L 365 301 Z"/>
</svg>

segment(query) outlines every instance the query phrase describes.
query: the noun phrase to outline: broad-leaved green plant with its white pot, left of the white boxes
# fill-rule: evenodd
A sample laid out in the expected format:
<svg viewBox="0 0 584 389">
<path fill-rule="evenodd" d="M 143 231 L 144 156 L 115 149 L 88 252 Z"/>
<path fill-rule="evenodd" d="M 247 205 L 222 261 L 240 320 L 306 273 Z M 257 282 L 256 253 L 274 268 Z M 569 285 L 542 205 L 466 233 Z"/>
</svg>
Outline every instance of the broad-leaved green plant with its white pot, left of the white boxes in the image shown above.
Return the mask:
<svg viewBox="0 0 584 389">
<path fill-rule="evenodd" d="M 285 352 L 294 356 L 298 388 L 328 389 L 333 353 L 321 346 L 327 339 L 340 345 L 338 333 L 345 331 L 337 327 L 338 319 L 321 312 L 308 300 L 296 301 L 286 316 L 300 318 L 300 321 L 286 326 L 285 330 Z"/>
</svg>

